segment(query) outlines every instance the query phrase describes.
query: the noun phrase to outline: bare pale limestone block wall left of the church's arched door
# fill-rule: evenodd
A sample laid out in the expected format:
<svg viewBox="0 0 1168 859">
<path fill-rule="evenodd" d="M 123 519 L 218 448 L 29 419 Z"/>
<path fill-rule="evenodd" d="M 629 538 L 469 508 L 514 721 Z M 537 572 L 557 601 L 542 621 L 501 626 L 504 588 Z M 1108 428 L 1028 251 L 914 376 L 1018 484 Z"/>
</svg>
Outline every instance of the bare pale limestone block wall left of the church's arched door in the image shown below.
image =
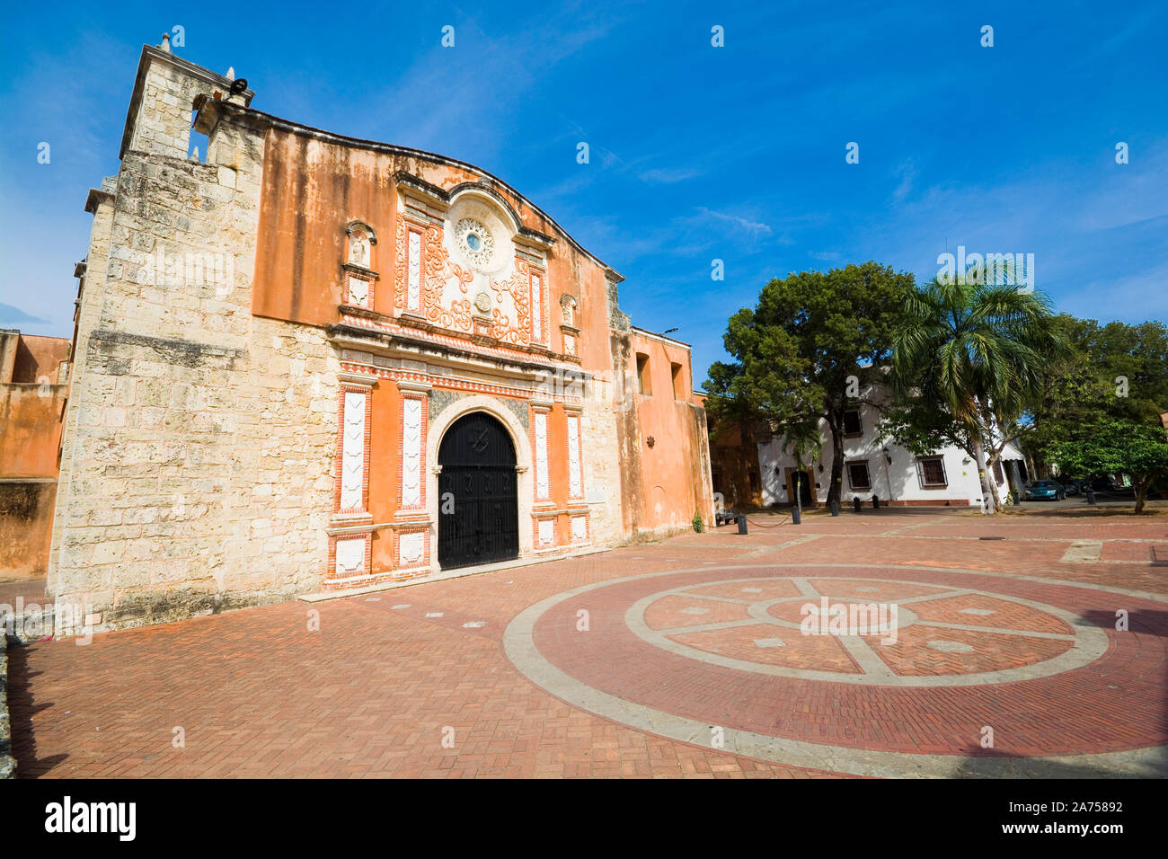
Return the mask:
<svg viewBox="0 0 1168 859">
<path fill-rule="evenodd" d="M 86 277 L 48 593 L 96 629 L 287 598 L 326 570 L 339 362 L 324 331 L 252 317 L 263 138 L 210 144 L 207 164 L 125 153 L 90 250 L 109 264 Z"/>
</svg>

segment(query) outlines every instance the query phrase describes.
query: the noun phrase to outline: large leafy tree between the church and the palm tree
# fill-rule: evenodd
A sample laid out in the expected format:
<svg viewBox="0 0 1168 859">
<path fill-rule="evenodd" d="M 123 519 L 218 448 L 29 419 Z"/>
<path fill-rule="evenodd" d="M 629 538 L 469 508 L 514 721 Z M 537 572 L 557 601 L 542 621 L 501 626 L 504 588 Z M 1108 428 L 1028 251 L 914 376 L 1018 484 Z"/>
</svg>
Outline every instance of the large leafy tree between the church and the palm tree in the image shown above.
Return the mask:
<svg viewBox="0 0 1168 859">
<path fill-rule="evenodd" d="M 913 288 L 912 275 L 875 262 L 771 280 L 753 310 L 730 318 L 723 342 L 735 360 L 710 367 L 707 409 L 715 420 L 764 421 L 800 462 L 819 452 L 826 423 L 828 501 L 839 501 L 843 415 L 889 359 Z"/>
</svg>

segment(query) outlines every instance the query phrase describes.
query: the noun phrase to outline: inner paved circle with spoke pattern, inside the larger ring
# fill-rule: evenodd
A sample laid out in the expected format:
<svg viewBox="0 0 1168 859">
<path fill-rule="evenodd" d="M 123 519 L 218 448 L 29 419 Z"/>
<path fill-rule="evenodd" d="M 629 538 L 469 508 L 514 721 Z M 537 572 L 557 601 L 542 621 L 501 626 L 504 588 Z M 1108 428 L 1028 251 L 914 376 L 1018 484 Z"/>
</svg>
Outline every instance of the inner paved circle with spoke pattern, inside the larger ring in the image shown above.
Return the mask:
<svg viewBox="0 0 1168 859">
<path fill-rule="evenodd" d="M 878 686 L 1031 679 L 1107 651 L 1106 632 L 1063 609 L 911 581 L 701 582 L 638 600 L 625 624 L 649 644 L 711 665 Z"/>
</svg>

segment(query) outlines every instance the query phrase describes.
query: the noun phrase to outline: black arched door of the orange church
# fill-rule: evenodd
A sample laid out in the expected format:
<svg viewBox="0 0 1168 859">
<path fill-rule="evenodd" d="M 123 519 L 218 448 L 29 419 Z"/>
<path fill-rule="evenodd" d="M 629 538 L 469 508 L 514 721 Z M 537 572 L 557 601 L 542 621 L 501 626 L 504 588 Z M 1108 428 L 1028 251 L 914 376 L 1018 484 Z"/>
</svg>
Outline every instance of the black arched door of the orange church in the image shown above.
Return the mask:
<svg viewBox="0 0 1168 859">
<path fill-rule="evenodd" d="M 519 557 L 515 446 L 503 425 L 472 411 L 438 448 L 438 564 L 443 569 Z"/>
</svg>

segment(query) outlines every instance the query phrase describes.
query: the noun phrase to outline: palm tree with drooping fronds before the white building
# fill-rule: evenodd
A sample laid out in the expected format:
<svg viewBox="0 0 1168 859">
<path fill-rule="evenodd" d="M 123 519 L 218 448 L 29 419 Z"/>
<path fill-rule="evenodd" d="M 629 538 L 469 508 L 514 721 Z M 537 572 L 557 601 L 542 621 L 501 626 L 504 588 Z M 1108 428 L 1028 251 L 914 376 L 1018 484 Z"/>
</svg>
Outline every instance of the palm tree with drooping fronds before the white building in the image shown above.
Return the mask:
<svg viewBox="0 0 1168 859">
<path fill-rule="evenodd" d="M 981 271 L 934 278 L 906 300 L 894 338 L 892 382 L 944 406 L 973 442 L 983 512 L 996 511 L 986 449 L 1035 402 L 1042 370 L 1065 349 L 1048 298 Z M 1003 439 L 1004 441 L 1004 439 Z M 994 455 L 996 459 L 996 452 Z"/>
</svg>

